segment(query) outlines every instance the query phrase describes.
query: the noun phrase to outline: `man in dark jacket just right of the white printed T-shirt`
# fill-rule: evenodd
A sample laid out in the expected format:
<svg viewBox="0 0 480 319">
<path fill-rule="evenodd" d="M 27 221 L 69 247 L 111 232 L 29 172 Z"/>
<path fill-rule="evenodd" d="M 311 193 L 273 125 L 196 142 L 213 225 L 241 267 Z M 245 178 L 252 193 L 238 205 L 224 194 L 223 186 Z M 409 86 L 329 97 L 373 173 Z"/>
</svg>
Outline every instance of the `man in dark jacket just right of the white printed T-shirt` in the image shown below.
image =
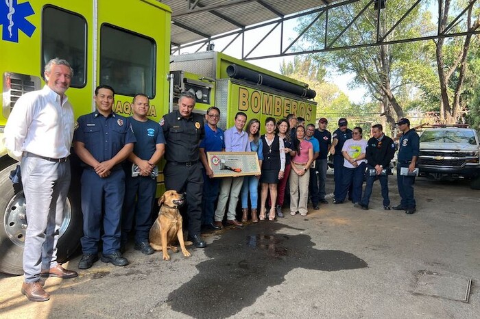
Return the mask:
<svg viewBox="0 0 480 319">
<path fill-rule="evenodd" d="M 372 195 L 373 183 L 380 180 L 381 193 L 383 197 L 383 209 L 390 210 L 390 199 L 388 197 L 388 170 L 390 161 L 395 155 L 395 144 L 392 138 L 383 133 L 381 124 L 372 126 L 372 138 L 367 142 L 365 158 L 367 159 L 367 184 L 360 202 L 361 209 L 368 209 L 370 196 Z"/>
</svg>

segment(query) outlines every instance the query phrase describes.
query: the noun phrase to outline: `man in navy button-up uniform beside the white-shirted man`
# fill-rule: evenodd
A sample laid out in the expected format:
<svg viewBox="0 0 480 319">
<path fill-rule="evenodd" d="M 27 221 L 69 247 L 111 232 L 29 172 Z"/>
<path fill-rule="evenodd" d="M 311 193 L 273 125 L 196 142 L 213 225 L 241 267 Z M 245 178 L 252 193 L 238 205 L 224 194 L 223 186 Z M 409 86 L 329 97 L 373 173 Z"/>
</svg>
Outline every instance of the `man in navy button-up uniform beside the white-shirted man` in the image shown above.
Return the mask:
<svg viewBox="0 0 480 319">
<path fill-rule="evenodd" d="M 73 147 L 82 159 L 82 237 L 83 256 L 78 268 L 91 268 L 98 259 L 103 241 L 101 261 L 126 266 L 128 260 L 120 252 L 121 214 L 125 194 L 125 173 L 121 166 L 133 151 L 136 138 L 130 119 L 112 112 L 115 91 L 110 86 L 97 86 L 97 110 L 78 118 Z M 103 225 L 103 227 L 102 227 Z M 101 229 L 103 228 L 103 235 Z"/>
</svg>

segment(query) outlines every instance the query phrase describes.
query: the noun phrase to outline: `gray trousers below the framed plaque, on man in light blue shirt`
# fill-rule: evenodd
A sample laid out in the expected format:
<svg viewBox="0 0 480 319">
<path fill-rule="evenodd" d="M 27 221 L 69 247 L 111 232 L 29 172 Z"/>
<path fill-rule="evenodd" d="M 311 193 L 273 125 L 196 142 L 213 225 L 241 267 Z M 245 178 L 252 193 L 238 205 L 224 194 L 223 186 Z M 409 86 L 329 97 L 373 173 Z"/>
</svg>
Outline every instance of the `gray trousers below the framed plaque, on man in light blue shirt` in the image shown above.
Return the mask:
<svg viewBox="0 0 480 319">
<path fill-rule="evenodd" d="M 237 203 L 239 202 L 239 194 L 242 185 L 243 176 L 224 177 L 221 179 L 217 210 L 215 210 L 215 222 L 221 222 L 221 220 L 224 220 L 228 197 L 230 197 L 230 202 L 228 203 L 227 220 L 237 219 Z"/>
</svg>

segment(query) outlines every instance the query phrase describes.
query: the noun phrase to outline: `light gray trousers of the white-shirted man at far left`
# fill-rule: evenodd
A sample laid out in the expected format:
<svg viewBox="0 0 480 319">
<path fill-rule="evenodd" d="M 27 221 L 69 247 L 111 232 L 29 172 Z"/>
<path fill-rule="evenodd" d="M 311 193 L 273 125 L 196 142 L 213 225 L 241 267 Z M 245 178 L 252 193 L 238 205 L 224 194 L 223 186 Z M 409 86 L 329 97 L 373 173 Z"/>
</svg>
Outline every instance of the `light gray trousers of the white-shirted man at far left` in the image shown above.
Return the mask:
<svg viewBox="0 0 480 319">
<path fill-rule="evenodd" d="M 25 282 L 40 280 L 40 271 L 57 264 L 57 241 L 70 186 L 70 163 L 49 162 L 27 153 L 21 161 L 27 205 L 23 250 Z"/>
</svg>

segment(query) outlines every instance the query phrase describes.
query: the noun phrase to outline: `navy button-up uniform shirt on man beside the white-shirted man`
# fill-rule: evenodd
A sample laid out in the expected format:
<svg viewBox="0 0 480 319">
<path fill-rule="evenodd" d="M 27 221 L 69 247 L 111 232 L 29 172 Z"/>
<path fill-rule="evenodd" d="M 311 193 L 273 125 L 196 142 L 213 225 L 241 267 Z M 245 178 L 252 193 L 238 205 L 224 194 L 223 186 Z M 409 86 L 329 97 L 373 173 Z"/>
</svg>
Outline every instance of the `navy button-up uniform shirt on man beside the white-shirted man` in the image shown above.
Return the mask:
<svg viewBox="0 0 480 319">
<path fill-rule="evenodd" d="M 98 162 L 112 159 L 125 144 L 136 142 L 130 120 L 114 112 L 105 117 L 95 111 L 80 116 L 77 123 L 73 140 L 84 143 Z"/>
</svg>

